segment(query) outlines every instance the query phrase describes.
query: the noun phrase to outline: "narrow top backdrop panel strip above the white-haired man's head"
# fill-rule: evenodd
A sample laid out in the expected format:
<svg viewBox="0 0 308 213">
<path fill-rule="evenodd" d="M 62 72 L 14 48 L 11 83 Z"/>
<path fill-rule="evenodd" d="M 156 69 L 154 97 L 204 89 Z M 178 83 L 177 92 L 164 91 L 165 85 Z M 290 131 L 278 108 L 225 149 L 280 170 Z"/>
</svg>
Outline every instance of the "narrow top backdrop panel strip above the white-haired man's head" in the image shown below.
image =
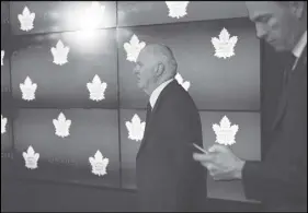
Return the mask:
<svg viewBox="0 0 308 213">
<path fill-rule="evenodd" d="M 169 16 L 164 1 L 118 1 L 118 26 L 151 25 L 247 16 L 244 2 L 191 1 L 186 15 Z"/>
</svg>

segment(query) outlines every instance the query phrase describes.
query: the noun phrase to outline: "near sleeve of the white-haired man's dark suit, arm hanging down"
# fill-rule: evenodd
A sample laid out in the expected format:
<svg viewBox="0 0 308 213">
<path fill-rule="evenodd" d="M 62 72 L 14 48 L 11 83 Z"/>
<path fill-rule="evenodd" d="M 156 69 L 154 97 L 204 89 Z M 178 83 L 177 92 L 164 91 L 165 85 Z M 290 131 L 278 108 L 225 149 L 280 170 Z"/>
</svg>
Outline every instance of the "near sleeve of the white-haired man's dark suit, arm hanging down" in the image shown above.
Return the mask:
<svg viewBox="0 0 308 213">
<path fill-rule="evenodd" d="M 160 141 L 169 157 L 163 197 L 170 202 L 164 202 L 163 211 L 201 211 L 206 199 L 206 170 L 193 161 L 192 146 L 193 142 L 202 145 L 198 111 L 190 105 L 181 106 L 168 117 L 172 127 Z"/>
</svg>

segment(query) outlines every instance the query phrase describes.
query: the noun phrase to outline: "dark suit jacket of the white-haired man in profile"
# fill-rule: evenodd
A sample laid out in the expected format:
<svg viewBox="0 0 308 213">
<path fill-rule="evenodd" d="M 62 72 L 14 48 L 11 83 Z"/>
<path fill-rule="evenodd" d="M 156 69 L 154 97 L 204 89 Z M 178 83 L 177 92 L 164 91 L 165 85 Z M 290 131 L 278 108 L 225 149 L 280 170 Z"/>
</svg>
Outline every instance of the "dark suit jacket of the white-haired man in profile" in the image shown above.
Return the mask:
<svg viewBox="0 0 308 213">
<path fill-rule="evenodd" d="M 148 117 L 148 115 L 147 115 Z M 147 118 L 136 159 L 140 211 L 199 211 L 206 199 L 206 169 L 193 161 L 202 146 L 202 123 L 189 93 L 172 81 Z"/>
</svg>

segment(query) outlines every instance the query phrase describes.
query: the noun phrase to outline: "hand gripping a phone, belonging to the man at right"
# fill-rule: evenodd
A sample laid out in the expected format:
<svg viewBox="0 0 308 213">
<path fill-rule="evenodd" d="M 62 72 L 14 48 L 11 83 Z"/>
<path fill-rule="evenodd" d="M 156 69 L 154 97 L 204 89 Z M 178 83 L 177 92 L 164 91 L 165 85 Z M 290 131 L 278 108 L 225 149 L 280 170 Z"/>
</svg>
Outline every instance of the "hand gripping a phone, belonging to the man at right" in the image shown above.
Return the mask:
<svg viewBox="0 0 308 213">
<path fill-rule="evenodd" d="M 244 161 L 237 157 L 232 151 L 225 146 L 215 144 L 208 149 L 208 154 L 194 153 L 198 161 L 209 171 L 215 180 L 233 180 L 242 178 Z"/>
</svg>

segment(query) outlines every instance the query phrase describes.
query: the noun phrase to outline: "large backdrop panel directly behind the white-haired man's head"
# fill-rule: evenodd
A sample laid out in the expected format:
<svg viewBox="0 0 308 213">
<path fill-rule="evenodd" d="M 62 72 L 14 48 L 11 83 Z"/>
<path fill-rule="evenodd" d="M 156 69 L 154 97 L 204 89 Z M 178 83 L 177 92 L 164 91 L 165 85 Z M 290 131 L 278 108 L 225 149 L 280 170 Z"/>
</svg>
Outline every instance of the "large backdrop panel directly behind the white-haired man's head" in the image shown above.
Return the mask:
<svg viewBox="0 0 308 213">
<path fill-rule="evenodd" d="M 212 37 L 226 27 L 238 36 L 236 56 L 215 57 Z M 122 108 L 145 108 L 148 97 L 133 74 L 135 62 L 127 60 L 124 44 L 133 35 L 146 44 L 168 45 L 178 61 L 178 71 L 191 83 L 190 94 L 198 109 L 260 109 L 260 42 L 248 19 L 155 25 L 118 29 L 119 98 Z"/>
</svg>

